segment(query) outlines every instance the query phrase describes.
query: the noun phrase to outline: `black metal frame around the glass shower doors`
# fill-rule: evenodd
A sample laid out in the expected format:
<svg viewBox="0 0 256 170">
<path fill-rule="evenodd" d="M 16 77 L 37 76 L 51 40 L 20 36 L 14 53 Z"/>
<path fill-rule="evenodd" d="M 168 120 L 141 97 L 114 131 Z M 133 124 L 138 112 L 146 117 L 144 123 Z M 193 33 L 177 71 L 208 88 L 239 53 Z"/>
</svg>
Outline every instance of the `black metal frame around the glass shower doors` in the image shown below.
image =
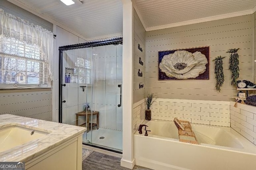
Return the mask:
<svg viewBox="0 0 256 170">
<path fill-rule="evenodd" d="M 123 42 L 123 38 L 113 38 L 113 39 L 108 39 L 108 40 L 91 41 L 91 42 L 86 42 L 86 43 L 78 43 L 78 44 L 65 45 L 65 46 L 59 47 L 59 107 L 58 107 L 58 109 L 59 109 L 59 123 L 62 123 L 62 103 L 64 103 L 62 101 L 62 86 L 65 86 L 65 84 L 62 84 L 62 76 L 63 76 L 63 72 L 62 72 L 62 66 L 63 66 L 62 65 L 62 60 L 63 60 L 62 53 L 63 53 L 63 51 L 70 50 L 70 49 L 81 49 L 81 48 L 88 48 L 88 47 L 97 47 L 97 46 L 103 46 L 103 45 L 118 45 L 118 44 L 122 44 L 122 42 Z M 104 148 L 104 147 L 97 146 L 97 145 L 86 144 L 84 142 L 83 142 L 83 144 L 122 154 L 122 152 L 117 151 L 117 150 L 112 150 L 110 148 Z"/>
</svg>

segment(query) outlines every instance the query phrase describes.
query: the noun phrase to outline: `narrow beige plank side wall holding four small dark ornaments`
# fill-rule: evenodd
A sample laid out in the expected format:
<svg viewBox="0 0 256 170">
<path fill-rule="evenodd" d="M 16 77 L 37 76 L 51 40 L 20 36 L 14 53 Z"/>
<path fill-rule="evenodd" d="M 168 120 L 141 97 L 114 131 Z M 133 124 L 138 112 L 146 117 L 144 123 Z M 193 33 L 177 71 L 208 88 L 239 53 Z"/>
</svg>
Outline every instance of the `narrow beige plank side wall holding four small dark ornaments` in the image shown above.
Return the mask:
<svg viewBox="0 0 256 170">
<path fill-rule="evenodd" d="M 145 98 L 146 94 L 146 31 L 138 17 L 138 14 L 134 10 L 134 86 L 133 86 L 133 103 L 136 103 Z M 138 44 L 142 48 L 142 51 L 138 49 Z M 141 58 L 143 65 L 139 63 Z M 138 76 L 138 71 L 142 73 L 142 77 Z M 139 88 L 139 85 L 142 85 Z"/>
</svg>

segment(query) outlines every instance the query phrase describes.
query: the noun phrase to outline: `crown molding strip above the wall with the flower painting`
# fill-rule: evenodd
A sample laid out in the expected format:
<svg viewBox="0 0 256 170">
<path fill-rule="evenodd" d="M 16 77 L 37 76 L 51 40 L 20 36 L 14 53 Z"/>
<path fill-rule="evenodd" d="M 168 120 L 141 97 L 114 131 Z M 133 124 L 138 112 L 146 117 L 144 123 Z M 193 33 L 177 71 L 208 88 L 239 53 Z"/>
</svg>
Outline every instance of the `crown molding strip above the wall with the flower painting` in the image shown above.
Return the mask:
<svg viewBox="0 0 256 170">
<path fill-rule="evenodd" d="M 243 16 L 243 15 L 253 14 L 252 11 L 253 10 L 245 10 L 245 11 L 234 12 L 234 13 L 230 13 L 230 14 L 223 14 L 223 15 L 218 15 L 218 16 L 200 18 L 200 19 L 196 19 L 196 20 L 177 22 L 177 23 L 174 23 L 174 24 L 167 24 L 167 25 L 162 25 L 162 26 L 149 27 L 149 28 L 146 28 L 146 31 L 161 30 L 161 29 L 165 29 L 165 28 L 172 28 L 172 27 L 185 26 L 185 25 L 190 25 L 190 24 L 197 24 L 197 23 L 201 23 L 201 22 L 208 22 L 208 21 L 220 20 L 220 19 L 225 19 L 225 18 L 232 18 L 232 17 L 236 17 L 236 16 Z"/>
</svg>

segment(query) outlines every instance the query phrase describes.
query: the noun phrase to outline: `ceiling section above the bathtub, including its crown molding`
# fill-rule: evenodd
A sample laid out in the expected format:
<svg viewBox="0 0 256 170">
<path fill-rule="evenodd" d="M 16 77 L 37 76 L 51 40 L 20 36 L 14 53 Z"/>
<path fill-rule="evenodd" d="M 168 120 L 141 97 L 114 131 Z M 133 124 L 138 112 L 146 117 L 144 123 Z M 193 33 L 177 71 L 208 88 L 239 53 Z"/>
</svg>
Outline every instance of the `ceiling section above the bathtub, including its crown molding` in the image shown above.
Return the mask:
<svg viewBox="0 0 256 170">
<path fill-rule="evenodd" d="M 256 7 L 256 0 L 134 0 L 134 2 L 146 30 L 191 24 L 191 21 L 200 22 L 200 19 L 201 22 L 207 21 L 213 19 L 213 16 L 216 18 L 221 15 L 222 18 L 227 18 L 251 14 L 252 9 L 254 8 L 255 11 Z"/>
</svg>

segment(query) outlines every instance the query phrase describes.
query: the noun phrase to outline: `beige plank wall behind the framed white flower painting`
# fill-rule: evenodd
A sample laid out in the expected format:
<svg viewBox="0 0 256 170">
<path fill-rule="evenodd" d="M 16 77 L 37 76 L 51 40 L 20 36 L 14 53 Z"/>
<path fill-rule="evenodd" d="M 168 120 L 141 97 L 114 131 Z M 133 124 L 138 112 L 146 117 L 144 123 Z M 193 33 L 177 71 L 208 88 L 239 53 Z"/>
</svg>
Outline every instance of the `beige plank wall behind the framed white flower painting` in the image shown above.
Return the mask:
<svg viewBox="0 0 256 170">
<path fill-rule="evenodd" d="M 252 81 L 252 15 L 179 26 L 146 32 L 146 90 L 156 93 L 159 98 L 230 101 L 237 95 L 230 85 L 228 49 L 240 48 L 239 79 Z M 210 46 L 209 80 L 158 81 L 158 51 Z M 215 90 L 214 62 L 217 56 L 223 59 L 224 85 L 221 92 Z"/>
</svg>

